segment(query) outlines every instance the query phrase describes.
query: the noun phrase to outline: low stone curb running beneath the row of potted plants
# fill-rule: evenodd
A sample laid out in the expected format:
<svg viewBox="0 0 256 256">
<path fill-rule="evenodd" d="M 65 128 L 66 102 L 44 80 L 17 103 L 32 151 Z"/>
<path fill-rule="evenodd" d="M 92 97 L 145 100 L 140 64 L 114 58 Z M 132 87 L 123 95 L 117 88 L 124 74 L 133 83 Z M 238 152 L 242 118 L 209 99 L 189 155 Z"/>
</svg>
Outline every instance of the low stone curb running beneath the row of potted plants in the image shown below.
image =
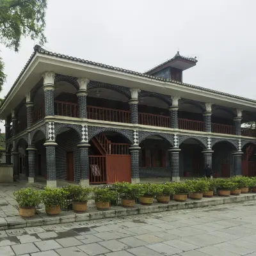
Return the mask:
<svg viewBox="0 0 256 256">
<path fill-rule="evenodd" d="M 175 211 L 180 209 L 191 209 L 197 207 L 207 207 L 221 204 L 232 204 L 244 201 L 256 200 L 256 193 L 246 193 L 240 196 L 202 198 L 202 200 L 191 200 L 187 202 L 171 201 L 169 204 L 154 203 L 150 206 L 136 204 L 134 208 L 126 209 L 121 206 L 110 207 L 108 211 L 97 211 L 97 209 L 89 209 L 88 212 L 77 214 L 73 211 L 63 211 L 59 216 L 50 217 L 45 213 L 36 214 L 34 218 L 23 220 L 20 216 L 1 218 L 0 230 L 24 227 L 36 227 L 59 223 L 74 223 L 79 221 L 100 220 L 106 218 L 115 218 L 123 216 L 131 216 L 136 214 L 145 214 L 152 212 Z"/>
</svg>

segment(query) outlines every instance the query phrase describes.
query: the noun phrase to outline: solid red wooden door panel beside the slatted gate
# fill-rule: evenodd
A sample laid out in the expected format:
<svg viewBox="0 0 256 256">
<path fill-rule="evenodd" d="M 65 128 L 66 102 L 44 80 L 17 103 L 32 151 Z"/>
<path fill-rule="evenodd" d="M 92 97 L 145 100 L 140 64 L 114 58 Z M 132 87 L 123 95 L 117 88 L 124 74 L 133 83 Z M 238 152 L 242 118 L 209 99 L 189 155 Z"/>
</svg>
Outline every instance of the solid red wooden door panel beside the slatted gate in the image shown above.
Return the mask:
<svg viewBox="0 0 256 256">
<path fill-rule="evenodd" d="M 131 182 L 131 156 L 108 155 L 106 156 L 107 183 Z"/>
</svg>

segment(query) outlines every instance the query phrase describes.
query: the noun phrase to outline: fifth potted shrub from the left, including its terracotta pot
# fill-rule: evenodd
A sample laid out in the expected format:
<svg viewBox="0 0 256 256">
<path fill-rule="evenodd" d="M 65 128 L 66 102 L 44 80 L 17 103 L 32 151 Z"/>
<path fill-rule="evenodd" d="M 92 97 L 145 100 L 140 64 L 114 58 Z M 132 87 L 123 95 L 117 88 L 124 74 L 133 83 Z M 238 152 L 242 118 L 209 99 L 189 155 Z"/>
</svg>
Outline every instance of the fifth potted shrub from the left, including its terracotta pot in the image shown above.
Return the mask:
<svg viewBox="0 0 256 256">
<path fill-rule="evenodd" d="M 116 182 L 112 188 L 115 188 L 122 199 L 124 207 L 134 207 L 136 198 L 144 195 L 143 186 L 141 184 L 131 184 L 129 182 Z"/>
</svg>

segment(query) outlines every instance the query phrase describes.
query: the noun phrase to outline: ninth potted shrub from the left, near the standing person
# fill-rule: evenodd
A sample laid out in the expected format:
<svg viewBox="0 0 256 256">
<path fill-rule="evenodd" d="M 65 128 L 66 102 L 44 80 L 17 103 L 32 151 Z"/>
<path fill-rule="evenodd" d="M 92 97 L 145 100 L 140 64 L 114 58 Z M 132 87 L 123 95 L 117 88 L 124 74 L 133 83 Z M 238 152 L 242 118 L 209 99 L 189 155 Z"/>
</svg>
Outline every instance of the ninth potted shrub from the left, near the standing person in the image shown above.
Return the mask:
<svg viewBox="0 0 256 256">
<path fill-rule="evenodd" d="M 186 180 L 185 183 L 191 188 L 191 193 L 189 193 L 191 199 L 201 200 L 203 193 L 209 190 L 209 182 L 205 179 Z"/>
</svg>

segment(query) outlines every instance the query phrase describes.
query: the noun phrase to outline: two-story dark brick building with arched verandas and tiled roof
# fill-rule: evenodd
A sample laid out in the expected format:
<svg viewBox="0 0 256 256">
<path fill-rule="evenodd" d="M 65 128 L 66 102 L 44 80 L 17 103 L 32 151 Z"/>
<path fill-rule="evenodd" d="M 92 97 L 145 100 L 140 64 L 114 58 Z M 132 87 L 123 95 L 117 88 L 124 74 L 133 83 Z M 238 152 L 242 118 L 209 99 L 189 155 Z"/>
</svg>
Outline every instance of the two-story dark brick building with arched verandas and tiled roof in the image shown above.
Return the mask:
<svg viewBox="0 0 256 256">
<path fill-rule="evenodd" d="M 0 108 L 14 178 L 179 180 L 206 164 L 215 177 L 255 175 L 256 132 L 241 124 L 256 100 L 183 83 L 195 65 L 177 52 L 141 74 L 36 45 Z"/>
</svg>

